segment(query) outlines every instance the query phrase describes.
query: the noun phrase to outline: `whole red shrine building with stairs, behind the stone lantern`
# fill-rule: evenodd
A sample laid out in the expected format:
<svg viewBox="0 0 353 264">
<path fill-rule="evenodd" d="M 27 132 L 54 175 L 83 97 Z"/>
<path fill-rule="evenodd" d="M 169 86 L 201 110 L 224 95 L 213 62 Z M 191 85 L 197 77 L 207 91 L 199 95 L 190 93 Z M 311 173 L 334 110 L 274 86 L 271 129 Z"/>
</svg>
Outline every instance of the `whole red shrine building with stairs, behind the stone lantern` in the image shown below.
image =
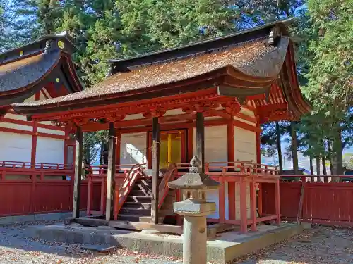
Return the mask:
<svg viewBox="0 0 353 264">
<path fill-rule="evenodd" d="M 58 38 L 51 46 L 66 54 L 71 45 Z M 183 175 L 198 156 L 203 172 L 220 182 L 220 189 L 208 196 L 217 203 L 209 222 L 239 225 L 242 232 L 256 230 L 258 222 L 280 222 L 278 170 L 261 164 L 260 125 L 296 120 L 310 111 L 284 22 L 109 61 L 106 80 L 83 91 L 68 56 L 60 60 L 67 63 L 57 67 L 61 71 L 44 74 L 54 77 L 48 86 L 31 84 L 29 89 L 32 95 L 43 87 L 54 91 L 58 78 L 69 87 L 58 90 L 65 94 L 11 101 L 6 107 L 11 104 L 16 114 L 35 124 L 54 122 L 76 131 L 71 221 L 157 230 L 164 223 L 177 230 L 181 223 L 172 202 L 181 194 L 167 183 Z M 10 77 L 6 87 L 14 87 L 11 92 L 24 86 L 21 91 L 28 90 L 30 84 L 16 84 Z M 91 165 L 86 180 L 83 132 L 97 130 L 109 130 L 108 164 Z M 88 182 L 85 196 L 82 182 Z M 262 184 L 274 185 L 273 212 L 262 211 Z M 96 217 L 79 218 L 82 199 L 87 199 L 88 215 Z"/>
</svg>

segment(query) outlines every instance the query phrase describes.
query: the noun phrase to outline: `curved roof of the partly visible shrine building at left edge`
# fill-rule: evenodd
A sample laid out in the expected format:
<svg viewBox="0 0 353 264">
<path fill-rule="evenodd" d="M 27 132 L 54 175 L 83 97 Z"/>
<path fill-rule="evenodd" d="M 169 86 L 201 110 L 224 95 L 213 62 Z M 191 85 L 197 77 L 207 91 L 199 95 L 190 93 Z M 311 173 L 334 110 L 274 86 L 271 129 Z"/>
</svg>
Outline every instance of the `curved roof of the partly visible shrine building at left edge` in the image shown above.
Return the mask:
<svg viewBox="0 0 353 264">
<path fill-rule="evenodd" d="M 55 84 L 67 92 L 82 90 L 65 35 L 50 35 L 0 54 L 0 106 L 21 102 L 43 87 Z"/>
</svg>

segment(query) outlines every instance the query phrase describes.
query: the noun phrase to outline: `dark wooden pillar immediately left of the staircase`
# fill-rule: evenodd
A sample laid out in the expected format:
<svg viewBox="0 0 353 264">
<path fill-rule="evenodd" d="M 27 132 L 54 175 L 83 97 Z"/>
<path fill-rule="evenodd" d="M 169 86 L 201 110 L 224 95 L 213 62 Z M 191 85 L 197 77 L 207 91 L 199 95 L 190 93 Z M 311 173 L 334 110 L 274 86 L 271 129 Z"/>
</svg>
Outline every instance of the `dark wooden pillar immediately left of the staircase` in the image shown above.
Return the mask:
<svg viewBox="0 0 353 264">
<path fill-rule="evenodd" d="M 114 122 L 109 122 L 109 146 L 108 146 L 108 171 L 107 171 L 107 202 L 105 204 L 105 219 L 112 220 L 114 192 L 115 192 L 115 168 L 116 168 L 116 133 Z"/>
</svg>

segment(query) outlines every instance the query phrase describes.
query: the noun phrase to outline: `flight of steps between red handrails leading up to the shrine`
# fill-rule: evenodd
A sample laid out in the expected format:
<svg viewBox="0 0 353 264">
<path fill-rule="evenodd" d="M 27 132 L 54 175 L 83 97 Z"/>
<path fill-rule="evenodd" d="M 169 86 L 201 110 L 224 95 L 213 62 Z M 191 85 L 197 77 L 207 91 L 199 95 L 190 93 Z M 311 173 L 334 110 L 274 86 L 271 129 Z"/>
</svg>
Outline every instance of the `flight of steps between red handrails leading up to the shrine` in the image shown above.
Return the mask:
<svg viewBox="0 0 353 264">
<path fill-rule="evenodd" d="M 161 182 L 162 179 L 160 179 Z M 152 180 L 140 177 L 128 194 L 121 207 L 118 220 L 122 222 L 151 222 Z M 174 215 L 173 202 L 175 191 L 169 190 L 159 212 L 159 222 L 163 223 L 167 215 Z"/>
</svg>

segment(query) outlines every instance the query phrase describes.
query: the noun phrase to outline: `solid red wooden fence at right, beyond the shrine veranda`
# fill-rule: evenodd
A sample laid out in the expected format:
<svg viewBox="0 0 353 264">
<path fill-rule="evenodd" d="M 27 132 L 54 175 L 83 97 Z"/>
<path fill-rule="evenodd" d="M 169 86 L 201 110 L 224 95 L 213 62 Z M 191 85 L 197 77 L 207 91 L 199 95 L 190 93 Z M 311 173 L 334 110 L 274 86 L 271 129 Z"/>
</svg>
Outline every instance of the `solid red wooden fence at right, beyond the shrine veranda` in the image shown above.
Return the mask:
<svg viewBox="0 0 353 264">
<path fill-rule="evenodd" d="M 322 176 L 321 176 L 322 177 Z M 297 220 L 302 182 L 280 182 L 282 220 Z M 263 212 L 275 212 L 271 184 L 262 184 Z M 304 182 L 303 222 L 353 226 L 352 182 Z"/>
</svg>

